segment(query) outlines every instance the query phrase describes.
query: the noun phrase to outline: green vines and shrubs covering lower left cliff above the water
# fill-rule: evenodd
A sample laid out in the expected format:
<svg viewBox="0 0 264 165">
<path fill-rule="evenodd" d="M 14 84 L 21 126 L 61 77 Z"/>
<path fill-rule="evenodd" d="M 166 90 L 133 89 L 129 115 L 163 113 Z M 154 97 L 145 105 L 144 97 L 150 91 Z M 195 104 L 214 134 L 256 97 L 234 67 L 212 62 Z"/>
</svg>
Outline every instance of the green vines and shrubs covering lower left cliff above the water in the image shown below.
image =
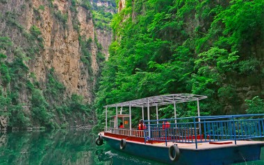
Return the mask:
<svg viewBox="0 0 264 165">
<path fill-rule="evenodd" d="M 6 60 L 6 54 L 10 53 L 15 55 L 12 62 Z M 9 118 L 8 126 L 65 128 L 69 126 L 65 116 L 80 118 L 83 123 L 91 123 L 89 118 L 85 118 L 89 116 L 91 107 L 83 102 L 83 97 L 73 94 L 70 98 L 64 98 L 65 86 L 59 83 L 53 69 L 47 76 L 46 88 L 43 88 L 26 67 L 25 61 L 29 59 L 22 49 L 14 50 L 9 37 L 0 37 L 0 115 Z M 25 91 L 31 100 L 29 106 L 23 103 L 20 97 Z M 61 121 L 56 116 L 60 117 Z"/>
</svg>

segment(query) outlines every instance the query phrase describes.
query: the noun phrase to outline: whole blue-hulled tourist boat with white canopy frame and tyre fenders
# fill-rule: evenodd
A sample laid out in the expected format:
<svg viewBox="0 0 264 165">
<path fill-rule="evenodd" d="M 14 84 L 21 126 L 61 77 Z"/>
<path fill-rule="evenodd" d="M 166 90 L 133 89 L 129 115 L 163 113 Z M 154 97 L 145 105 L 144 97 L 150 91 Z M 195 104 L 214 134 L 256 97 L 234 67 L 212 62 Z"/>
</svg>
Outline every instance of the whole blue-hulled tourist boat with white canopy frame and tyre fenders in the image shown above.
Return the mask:
<svg viewBox="0 0 264 165">
<path fill-rule="evenodd" d="M 104 132 L 99 132 L 95 142 L 101 146 L 106 141 L 124 153 L 166 164 L 233 164 L 260 159 L 264 141 L 252 139 L 263 137 L 264 114 L 200 116 L 199 101 L 204 98 L 207 96 L 170 94 L 106 105 Z M 177 118 L 176 107 L 191 101 L 197 102 L 197 116 Z M 159 118 L 160 107 L 171 108 L 172 119 Z M 132 127 L 132 111 L 142 113 L 145 130 Z M 118 128 L 119 122 L 124 128 Z"/>
</svg>

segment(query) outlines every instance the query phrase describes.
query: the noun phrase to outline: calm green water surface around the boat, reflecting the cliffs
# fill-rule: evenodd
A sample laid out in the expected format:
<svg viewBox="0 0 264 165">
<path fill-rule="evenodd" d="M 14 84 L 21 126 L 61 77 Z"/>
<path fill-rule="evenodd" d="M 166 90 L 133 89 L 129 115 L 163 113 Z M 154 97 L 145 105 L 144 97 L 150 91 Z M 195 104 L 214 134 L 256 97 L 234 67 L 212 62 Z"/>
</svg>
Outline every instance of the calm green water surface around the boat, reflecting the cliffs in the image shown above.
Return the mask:
<svg viewBox="0 0 264 165">
<path fill-rule="evenodd" d="M 90 130 L 0 133 L 0 165 L 162 165 L 113 150 L 106 144 L 96 146 L 94 144 L 96 138 L 97 136 L 92 134 Z M 244 164 L 264 164 L 264 148 L 261 153 L 261 160 L 239 165 Z"/>
</svg>

